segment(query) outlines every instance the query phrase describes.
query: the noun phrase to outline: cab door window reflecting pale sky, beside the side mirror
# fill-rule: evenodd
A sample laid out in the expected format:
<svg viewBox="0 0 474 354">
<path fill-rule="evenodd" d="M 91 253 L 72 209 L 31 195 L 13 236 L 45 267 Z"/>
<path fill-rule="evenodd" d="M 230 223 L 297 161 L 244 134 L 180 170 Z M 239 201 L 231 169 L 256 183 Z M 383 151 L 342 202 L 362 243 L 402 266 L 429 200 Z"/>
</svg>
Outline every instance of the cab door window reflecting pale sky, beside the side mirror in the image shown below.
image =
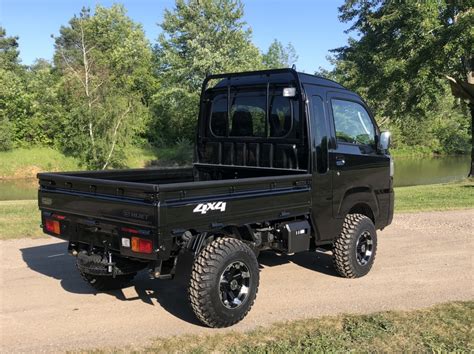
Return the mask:
<svg viewBox="0 0 474 354">
<path fill-rule="evenodd" d="M 361 104 L 333 99 L 331 105 L 338 142 L 361 145 L 375 144 L 374 124 Z"/>
</svg>

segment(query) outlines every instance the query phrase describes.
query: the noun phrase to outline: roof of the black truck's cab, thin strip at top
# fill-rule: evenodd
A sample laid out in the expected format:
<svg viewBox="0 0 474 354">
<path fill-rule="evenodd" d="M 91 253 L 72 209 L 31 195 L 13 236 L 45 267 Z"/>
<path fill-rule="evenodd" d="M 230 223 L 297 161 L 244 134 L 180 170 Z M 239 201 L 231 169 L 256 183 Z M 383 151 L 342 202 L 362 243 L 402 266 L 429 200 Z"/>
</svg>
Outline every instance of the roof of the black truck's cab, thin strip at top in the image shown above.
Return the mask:
<svg viewBox="0 0 474 354">
<path fill-rule="evenodd" d="M 273 70 L 261 70 L 261 71 L 249 71 L 243 73 L 228 73 L 220 75 L 208 76 L 206 82 L 210 79 L 221 79 L 213 88 L 224 88 L 228 84 L 228 80 L 231 80 L 232 86 L 254 86 L 264 85 L 267 81 L 273 84 L 288 84 L 298 78 L 302 84 L 319 85 L 326 87 L 334 87 L 339 89 L 346 89 L 341 84 L 335 81 L 316 76 L 298 72 L 293 69 L 273 69 Z M 270 79 L 270 80 L 269 80 Z"/>
</svg>

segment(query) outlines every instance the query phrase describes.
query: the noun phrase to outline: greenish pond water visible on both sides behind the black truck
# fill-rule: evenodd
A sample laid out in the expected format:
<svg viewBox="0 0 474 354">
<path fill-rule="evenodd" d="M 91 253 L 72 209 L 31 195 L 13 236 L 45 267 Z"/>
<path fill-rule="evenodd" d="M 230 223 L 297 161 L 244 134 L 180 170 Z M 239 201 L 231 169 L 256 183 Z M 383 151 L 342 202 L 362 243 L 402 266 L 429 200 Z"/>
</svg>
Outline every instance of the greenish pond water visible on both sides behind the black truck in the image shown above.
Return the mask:
<svg viewBox="0 0 474 354">
<path fill-rule="evenodd" d="M 469 173 L 470 156 L 396 158 L 395 186 L 444 183 L 461 180 Z M 0 200 L 36 199 L 36 179 L 0 180 Z"/>
</svg>

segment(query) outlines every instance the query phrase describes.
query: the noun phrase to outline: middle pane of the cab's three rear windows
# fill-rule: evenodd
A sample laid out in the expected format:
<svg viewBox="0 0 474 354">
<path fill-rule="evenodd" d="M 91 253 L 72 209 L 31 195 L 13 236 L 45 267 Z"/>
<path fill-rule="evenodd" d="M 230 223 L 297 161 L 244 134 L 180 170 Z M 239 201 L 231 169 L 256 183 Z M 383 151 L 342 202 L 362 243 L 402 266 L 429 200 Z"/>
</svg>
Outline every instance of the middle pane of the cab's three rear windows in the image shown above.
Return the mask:
<svg viewBox="0 0 474 354">
<path fill-rule="evenodd" d="M 262 92 L 237 93 L 230 107 L 229 136 L 266 136 L 266 95 Z"/>
</svg>

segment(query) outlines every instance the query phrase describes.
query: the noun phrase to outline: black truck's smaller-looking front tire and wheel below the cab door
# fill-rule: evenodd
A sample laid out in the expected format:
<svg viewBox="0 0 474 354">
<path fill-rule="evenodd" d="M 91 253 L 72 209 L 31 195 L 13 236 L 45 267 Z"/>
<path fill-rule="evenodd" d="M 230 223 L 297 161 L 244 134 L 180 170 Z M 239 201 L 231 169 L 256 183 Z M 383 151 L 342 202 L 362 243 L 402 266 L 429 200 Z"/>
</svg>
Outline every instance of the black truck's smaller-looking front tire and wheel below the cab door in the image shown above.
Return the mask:
<svg viewBox="0 0 474 354">
<path fill-rule="evenodd" d="M 374 264 L 376 252 L 377 232 L 372 220 L 362 214 L 348 214 L 333 247 L 339 275 L 344 278 L 366 275 Z"/>
</svg>

